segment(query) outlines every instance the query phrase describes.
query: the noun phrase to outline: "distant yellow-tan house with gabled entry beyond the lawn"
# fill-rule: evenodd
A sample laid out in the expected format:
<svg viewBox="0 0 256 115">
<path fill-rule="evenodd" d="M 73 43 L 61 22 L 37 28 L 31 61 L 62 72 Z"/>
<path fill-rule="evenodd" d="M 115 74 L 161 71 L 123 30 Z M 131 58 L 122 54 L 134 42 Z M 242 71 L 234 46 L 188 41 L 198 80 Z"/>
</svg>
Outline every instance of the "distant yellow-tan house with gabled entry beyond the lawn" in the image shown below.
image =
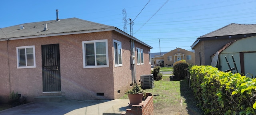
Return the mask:
<svg viewBox="0 0 256 115">
<path fill-rule="evenodd" d="M 173 63 L 182 59 L 186 60 L 189 64 L 195 64 L 194 52 L 184 50 L 182 48 L 176 48 L 164 55 L 153 57 L 152 59 L 154 63 L 164 67 L 173 66 Z"/>
</svg>

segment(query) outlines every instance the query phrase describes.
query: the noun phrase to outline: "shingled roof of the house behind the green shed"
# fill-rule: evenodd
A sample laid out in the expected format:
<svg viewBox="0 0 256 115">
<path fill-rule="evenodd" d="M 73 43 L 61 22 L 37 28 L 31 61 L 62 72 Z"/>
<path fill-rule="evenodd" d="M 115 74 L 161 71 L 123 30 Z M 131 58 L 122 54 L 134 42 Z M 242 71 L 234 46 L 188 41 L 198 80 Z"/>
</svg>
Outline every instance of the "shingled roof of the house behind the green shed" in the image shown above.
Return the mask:
<svg viewBox="0 0 256 115">
<path fill-rule="evenodd" d="M 199 38 L 216 37 L 216 36 L 229 36 L 239 34 L 256 33 L 256 24 L 235 24 L 231 23 L 218 30 L 200 36 Z"/>
</svg>

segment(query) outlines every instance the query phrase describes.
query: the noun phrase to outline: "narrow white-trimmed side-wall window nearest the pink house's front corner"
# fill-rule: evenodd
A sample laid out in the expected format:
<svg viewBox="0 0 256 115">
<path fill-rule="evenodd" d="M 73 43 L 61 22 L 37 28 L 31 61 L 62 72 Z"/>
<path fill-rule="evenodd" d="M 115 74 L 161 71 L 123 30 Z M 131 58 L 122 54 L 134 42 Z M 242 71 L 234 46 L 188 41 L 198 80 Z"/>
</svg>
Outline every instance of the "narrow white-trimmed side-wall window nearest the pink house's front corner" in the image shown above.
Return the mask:
<svg viewBox="0 0 256 115">
<path fill-rule="evenodd" d="M 115 67 L 122 66 L 122 43 L 114 40 L 114 60 Z"/>
</svg>

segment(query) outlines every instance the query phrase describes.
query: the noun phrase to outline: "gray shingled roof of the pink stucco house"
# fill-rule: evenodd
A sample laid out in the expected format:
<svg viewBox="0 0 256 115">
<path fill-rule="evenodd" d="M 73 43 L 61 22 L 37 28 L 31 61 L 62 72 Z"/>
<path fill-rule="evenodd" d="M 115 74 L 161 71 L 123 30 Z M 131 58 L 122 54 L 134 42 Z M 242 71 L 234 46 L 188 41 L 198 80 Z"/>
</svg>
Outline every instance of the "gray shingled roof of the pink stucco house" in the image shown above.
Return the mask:
<svg viewBox="0 0 256 115">
<path fill-rule="evenodd" d="M 44 31 L 44 25 L 47 24 L 47 31 Z M 20 25 L 24 25 L 24 29 L 20 29 Z M 25 23 L 16 26 L 10 26 L 2 28 L 0 31 L 0 39 L 25 37 L 25 36 L 37 36 L 46 34 L 59 34 L 67 32 L 80 32 L 88 30 L 115 28 L 114 26 L 108 26 L 104 24 L 98 24 L 78 18 L 68 18 L 59 21 L 50 20 L 43 22 Z"/>
</svg>

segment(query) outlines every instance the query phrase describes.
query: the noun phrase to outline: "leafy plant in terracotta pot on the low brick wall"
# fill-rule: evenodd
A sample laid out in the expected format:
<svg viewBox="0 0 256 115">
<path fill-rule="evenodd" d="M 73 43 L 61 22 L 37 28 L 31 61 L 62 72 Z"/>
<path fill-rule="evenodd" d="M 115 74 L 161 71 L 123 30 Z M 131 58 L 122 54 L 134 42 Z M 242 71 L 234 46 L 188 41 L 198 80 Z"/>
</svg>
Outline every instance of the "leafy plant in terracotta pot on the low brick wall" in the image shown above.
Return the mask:
<svg viewBox="0 0 256 115">
<path fill-rule="evenodd" d="M 126 91 L 126 94 L 128 94 L 130 105 L 139 105 L 142 102 L 142 98 L 146 97 L 145 91 L 138 84 L 135 84 L 132 89 Z"/>
</svg>

